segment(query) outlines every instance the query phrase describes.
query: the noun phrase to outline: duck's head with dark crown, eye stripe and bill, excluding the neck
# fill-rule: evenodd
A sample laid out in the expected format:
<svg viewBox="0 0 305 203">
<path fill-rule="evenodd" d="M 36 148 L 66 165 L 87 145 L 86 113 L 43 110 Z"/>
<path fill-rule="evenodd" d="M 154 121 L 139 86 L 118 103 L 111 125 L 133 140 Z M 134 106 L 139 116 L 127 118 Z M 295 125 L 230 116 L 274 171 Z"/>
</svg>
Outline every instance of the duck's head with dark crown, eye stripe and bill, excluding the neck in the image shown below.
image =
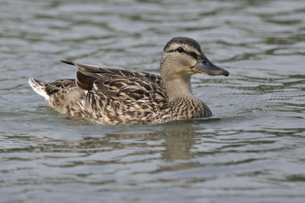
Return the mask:
<svg viewBox="0 0 305 203">
<path fill-rule="evenodd" d="M 209 76 L 229 76 L 229 72 L 214 65 L 203 53 L 197 41 L 188 37 L 176 37 L 163 49 L 160 72 L 192 75 L 203 73 Z"/>
</svg>

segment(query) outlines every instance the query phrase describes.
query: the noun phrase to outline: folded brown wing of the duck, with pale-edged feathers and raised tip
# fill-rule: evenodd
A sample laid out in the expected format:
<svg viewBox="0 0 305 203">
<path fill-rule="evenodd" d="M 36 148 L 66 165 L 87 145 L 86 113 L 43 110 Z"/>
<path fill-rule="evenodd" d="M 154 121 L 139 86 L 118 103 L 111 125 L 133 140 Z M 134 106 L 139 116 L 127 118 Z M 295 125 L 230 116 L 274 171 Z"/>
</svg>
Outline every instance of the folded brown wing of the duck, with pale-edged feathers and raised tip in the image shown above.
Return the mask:
<svg viewBox="0 0 305 203">
<path fill-rule="evenodd" d="M 84 65 L 70 61 L 63 62 L 79 68 L 76 73 L 78 87 L 84 90 L 92 90 L 93 93 L 103 94 L 105 98 L 116 98 L 127 106 L 129 101 L 146 100 L 148 103 L 157 105 L 167 99 L 160 76 L 145 72 Z M 137 105 L 142 105 L 142 103 Z M 135 105 L 135 103 L 132 105 Z"/>
</svg>

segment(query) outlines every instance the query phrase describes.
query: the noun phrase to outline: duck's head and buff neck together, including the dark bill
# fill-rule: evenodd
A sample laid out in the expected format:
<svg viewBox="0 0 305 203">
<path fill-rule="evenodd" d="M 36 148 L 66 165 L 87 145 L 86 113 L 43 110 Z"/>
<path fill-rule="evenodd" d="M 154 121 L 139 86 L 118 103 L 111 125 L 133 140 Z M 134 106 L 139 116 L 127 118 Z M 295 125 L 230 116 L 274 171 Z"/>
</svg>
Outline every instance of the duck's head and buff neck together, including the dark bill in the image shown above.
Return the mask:
<svg viewBox="0 0 305 203">
<path fill-rule="evenodd" d="M 194 39 L 173 38 L 164 47 L 160 63 L 162 84 L 170 100 L 193 95 L 191 76 L 228 76 L 230 73 L 210 62 Z"/>
</svg>

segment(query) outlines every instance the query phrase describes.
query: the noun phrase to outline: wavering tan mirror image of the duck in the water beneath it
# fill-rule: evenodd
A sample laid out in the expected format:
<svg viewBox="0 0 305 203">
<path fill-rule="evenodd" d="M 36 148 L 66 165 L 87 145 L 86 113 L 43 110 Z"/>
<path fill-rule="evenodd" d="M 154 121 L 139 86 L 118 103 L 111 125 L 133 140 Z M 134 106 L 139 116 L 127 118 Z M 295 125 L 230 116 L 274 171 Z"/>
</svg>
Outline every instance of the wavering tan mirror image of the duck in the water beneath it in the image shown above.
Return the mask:
<svg viewBox="0 0 305 203">
<path fill-rule="evenodd" d="M 220 119 L 211 119 L 220 120 Z M 207 120 L 197 120 L 197 123 L 202 123 Z M 147 126 L 137 126 L 137 131 L 144 133 L 130 132 L 129 127 L 126 130 L 120 130 L 119 132 L 112 134 L 106 133 L 102 137 L 84 137 L 82 140 L 59 140 L 47 137 L 32 137 L 31 139 L 36 139 L 44 142 L 56 142 L 55 146 L 52 148 L 58 148 L 60 151 L 69 152 L 87 149 L 90 153 L 104 152 L 113 149 L 126 149 L 126 148 L 156 148 L 152 151 L 139 150 L 137 153 L 156 153 L 160 152 L 161 157 L 165 161 L 174 161 L 177 159 L 188 159 L 194 157 L 194 154 L 190 149 L 196 143 L 196 136 L 200 135 L 199 130 L 203 130 L 196 124 L 188 121 L 177 121 L 175 123 L 167 124 L 154 124 L 155 128 L 149 128 L 147 132 Z M 132 127 L 131 127 L 132 128 Z M 62 144 L 60 144 L 62 143 Z M 49 144 L 46 144 L 48 146 Z M 51 146 L 48 146 L 51 147 Z"/>
</svg>

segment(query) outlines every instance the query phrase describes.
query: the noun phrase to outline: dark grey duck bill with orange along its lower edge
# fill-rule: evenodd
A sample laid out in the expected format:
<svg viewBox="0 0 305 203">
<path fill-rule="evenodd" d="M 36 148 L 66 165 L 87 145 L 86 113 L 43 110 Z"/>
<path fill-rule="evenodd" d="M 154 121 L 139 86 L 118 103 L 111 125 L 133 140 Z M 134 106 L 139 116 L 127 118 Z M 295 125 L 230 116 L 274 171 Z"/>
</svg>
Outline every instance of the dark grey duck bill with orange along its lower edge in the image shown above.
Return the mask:
<svg viewBox="0 0 305 203">
<path fill-rule="evenodd" d="M 212 64 L 206 56 L 198 56 L 197 64 L 192 67 L 192 72 L 204 73 L 209 76 L 229 76 L 229 72 Z"/>
</svg>

